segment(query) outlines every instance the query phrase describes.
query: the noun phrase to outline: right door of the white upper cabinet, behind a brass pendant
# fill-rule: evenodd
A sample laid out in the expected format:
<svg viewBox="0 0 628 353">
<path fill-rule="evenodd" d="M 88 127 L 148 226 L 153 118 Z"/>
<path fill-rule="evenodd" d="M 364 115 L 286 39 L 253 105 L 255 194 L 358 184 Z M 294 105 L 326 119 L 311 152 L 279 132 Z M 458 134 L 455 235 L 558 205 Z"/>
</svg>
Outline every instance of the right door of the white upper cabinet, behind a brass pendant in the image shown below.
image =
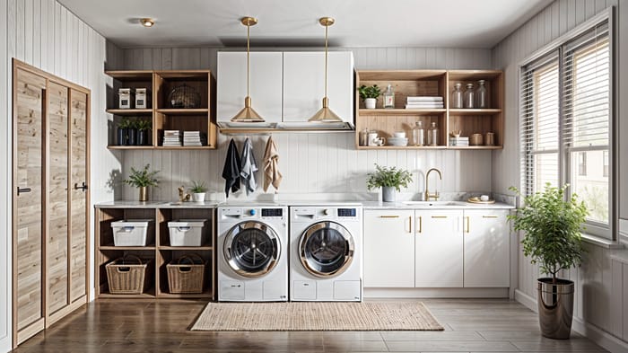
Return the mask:
<svg viewBox="0 0 628 353">
<path fill-rule="evenodd" d="M 327 63 L 329 108 L 353 123 L 353 54 L 330 52 Z M 307 121 L 325 96 L 325 52 L 283 53 L 283 121 Z"/>
</svg>

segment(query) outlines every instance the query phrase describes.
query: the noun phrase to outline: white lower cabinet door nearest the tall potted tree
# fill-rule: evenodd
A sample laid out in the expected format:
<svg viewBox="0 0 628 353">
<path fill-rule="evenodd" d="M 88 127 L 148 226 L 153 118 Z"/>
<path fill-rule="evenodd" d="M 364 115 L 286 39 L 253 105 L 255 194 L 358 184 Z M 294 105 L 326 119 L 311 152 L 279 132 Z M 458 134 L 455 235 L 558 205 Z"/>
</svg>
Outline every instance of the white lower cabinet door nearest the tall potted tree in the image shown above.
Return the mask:
<svg viewBox="0 0 628 353">
<path fill-rule="evenodd" d="M 507 210 L 465 210 L 465 287 L 510 287 Z"/>
</svg>

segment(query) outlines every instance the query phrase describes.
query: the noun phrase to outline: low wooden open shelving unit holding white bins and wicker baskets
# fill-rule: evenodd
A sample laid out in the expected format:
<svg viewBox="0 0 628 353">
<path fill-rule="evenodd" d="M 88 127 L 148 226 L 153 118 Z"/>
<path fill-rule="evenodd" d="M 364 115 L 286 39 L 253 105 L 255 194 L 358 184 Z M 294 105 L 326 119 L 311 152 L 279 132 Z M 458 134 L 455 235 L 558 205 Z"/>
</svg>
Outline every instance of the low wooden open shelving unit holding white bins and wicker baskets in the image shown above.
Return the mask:
<svg viewBox="0 0 628 353">
<path fill-rule="evenodd" d="M 122 208 L 122 207 L 98 207 L 95 217 L 95 276 L 96 298 L 190 298 L 214 300 L 215 296 L 215 229 L 214 208 Z M 111 222 L 121 219 L 152 219 L 154 227 L 149 229 L 153 236 L 153 243 L 147 246 L 114 246 Z M 168 222 L 176 219 L 207 219 L 204 231 L 206 243 L 201 246 L 170 246 L 170 231 Z M 204 287 L 202 293 L 179 294 L 170 293 L 168 286 L 168 271 L 166 265 L 170 260 L 194 253 L 206 261 Z M 109 293 L 107 270 L 105 265 L 126 254 L 133 254 L 143 260 L 152 260 L 153 276 L 150 279 L 151 286 L 147 291 L 139 295 L 118 295 Z"/>
</svg>

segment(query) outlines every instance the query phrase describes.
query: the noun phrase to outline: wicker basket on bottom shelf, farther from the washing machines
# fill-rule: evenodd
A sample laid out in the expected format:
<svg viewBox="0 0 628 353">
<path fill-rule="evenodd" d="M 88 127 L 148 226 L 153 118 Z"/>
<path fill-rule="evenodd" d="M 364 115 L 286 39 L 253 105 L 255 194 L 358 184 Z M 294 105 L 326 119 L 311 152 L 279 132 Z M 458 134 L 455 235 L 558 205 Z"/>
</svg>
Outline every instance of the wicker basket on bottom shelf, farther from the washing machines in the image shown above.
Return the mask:
<svg viewBox="0 0 628 353">
<path fill-rule="evenodd" d="M 125 255 L 105 265 L 109 293 L 138 295 L 150 285 L 153 260 L 141 260 L 135 255 Z"/>
</svg>

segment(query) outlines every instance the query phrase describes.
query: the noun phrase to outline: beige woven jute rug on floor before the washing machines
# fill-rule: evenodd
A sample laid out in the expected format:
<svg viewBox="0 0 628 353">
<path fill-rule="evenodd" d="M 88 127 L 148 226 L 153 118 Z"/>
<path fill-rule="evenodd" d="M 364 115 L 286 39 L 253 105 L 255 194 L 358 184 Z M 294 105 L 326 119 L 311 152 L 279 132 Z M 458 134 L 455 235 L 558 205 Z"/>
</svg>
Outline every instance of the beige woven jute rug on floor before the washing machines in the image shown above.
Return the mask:
<svg viewBox="0 0 628 353">
<path fill-rule="evenodd" d="M 442 331 L 423 303 L 209 303 L 192 331 Z"/>
</svg>

